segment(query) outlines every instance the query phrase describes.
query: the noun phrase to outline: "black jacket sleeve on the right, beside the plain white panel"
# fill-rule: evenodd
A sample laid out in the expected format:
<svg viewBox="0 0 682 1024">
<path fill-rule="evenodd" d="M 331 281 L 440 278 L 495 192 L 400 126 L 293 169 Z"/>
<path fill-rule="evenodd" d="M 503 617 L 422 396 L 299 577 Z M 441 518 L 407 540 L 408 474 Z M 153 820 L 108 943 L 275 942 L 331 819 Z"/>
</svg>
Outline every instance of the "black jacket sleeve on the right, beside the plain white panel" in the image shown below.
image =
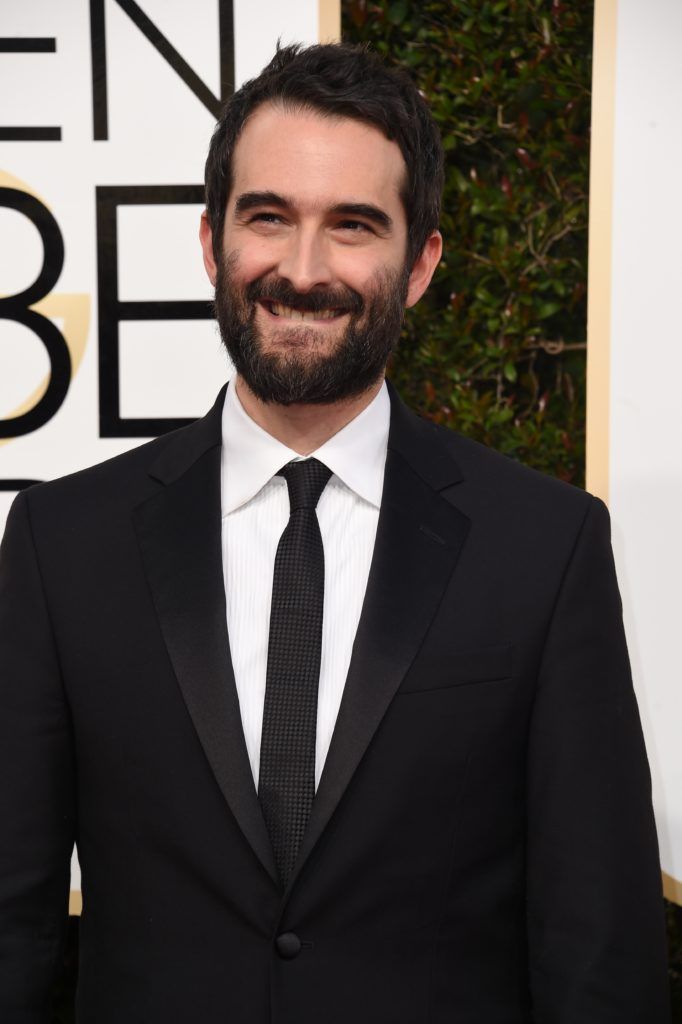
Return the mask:
<svg viewBox="0 0 682 1024">
<path fill-rule="evenodd" d="M 591 499 L 547 634 L 527 792 L 534 1020 L 667 1024 L 649 770 L 608 513 L 597 499 Z"/>
</svg>

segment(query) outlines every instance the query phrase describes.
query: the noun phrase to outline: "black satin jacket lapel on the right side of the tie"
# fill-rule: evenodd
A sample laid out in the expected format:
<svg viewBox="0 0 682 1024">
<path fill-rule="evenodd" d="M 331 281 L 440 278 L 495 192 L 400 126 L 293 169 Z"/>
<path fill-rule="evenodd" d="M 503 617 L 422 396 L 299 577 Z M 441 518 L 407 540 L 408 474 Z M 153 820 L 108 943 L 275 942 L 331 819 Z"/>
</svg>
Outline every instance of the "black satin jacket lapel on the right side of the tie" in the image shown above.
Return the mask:
<svg viewBox="0 0 682 1024">
<path fill-rule="evenodd" d="M 391 419 L 372 568 L 348 677 L 292 883 L 319 839 L 410 668 L 469 528 L 440 494 L 459 471 L 431 428 Z M 430 482 L 427 482 L 429 480 Z"/>
</svg>

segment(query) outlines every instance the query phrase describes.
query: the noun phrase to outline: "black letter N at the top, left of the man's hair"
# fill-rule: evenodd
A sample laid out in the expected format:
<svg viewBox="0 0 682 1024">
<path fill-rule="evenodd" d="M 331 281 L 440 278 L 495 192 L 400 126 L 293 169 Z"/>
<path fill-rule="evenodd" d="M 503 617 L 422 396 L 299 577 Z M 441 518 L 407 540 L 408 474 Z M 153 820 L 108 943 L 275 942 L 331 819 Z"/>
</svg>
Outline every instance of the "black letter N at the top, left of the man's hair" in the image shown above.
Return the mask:
<svg viewBox="0 0 682 1024">
<path fill-rule="evenodd" d="M 220 38 L 220 96 L 215 96 L 197 72 L 180 56 L 154 22 L 134 0 L 115 0 L 121 10 L 137 26 L 152 45 L 179 75 L 214 118 L 218 118 L 223 101 L 235 90 L 235 33 L 232 0 L 218 0 L 218 35 Z M 187 6 L 189 10 L 189 5 Z M 109 104 L 106 101 L 106 29 L 104 0 L 90 0 L 90 51 L 92 58 L 92 137 L 95 141 L 109 138 Z"/>
</svg>

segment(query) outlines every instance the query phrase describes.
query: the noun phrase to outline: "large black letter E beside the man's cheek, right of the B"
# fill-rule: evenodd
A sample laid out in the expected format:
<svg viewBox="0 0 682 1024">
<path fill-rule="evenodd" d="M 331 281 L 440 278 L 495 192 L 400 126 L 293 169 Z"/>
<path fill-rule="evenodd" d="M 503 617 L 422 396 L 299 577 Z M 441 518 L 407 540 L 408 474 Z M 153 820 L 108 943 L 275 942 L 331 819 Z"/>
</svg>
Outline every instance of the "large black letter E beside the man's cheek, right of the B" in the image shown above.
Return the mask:
<svg viewBox="0 0 682 1024">
<path fill-rule="evenodd" d="M 211 319 L 210 302 L 122 302 L 116 210 L 119 206 L 203 203 L 202 185 L 102 185 L 97 193 L 97 292 L 99 309 L 99 436 L 156 437 L 191 419 L 121 419 L 119 324 L 121 321 Z"/>
</svg>

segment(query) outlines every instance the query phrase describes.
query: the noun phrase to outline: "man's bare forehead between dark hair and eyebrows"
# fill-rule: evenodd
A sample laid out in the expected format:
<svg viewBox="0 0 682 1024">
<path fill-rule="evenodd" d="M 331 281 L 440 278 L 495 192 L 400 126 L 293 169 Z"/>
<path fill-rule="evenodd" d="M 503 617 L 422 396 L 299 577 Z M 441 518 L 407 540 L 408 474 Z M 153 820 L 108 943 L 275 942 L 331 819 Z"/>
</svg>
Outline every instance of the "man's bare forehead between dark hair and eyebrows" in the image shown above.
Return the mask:
<svg viewBox="0 0 682 1024">
<path fill-rule="evenodd" d="M 231 196 L 275 191 L 302 205 L 346 200 L 401 208 L 406 175 L 399 146 L 378 128 L 266 103 L 235 147 Z"/>
</svg>

